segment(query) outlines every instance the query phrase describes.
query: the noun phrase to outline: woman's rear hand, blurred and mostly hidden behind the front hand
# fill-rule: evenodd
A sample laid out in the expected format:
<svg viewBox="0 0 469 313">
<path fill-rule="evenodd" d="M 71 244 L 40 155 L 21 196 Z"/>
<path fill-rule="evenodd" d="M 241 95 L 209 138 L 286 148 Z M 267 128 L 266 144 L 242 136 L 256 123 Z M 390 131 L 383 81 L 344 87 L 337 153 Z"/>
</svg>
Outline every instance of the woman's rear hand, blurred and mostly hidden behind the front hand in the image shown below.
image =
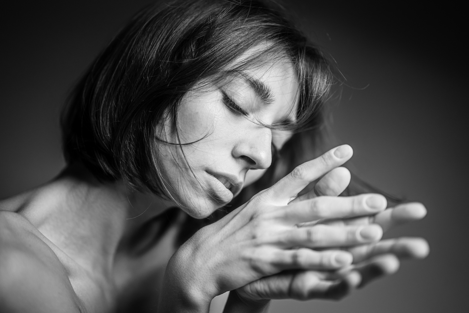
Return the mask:
<svg viewBox="0 0 469 313">
<path fill-rule="evenodd" d="M 350 173 L 346 168 L 334 168 L 326 174 L 309 193 L 296 198 L 290 203 L 304 201 L 320 195 L 339 195 L 350 182 Z M 384 231 L 402 223 L 422 219 L 425 207 L 419 203 L 407 203 L 386 209 L 374 216 L 352 219 L 323 221 L 335 226 L 366 225 L 377 223 Z M 309 224 L 317 224 L 314 221 Z M 308 225 L 305 223 L 303 225 Z M 340 271 L 290 271 L 265 277 L 236 290 L 241 298 L 252 300 L 272 298 L 333 298 L 344 297 L 351 288 L 365 284 L 382 276 L 389 275 L 399 268 L 399 259 L 421 259 L 428 254 L 428 244 L 422 238 L 397 238 L 378 243 L 364 244 L 348 249 L 354 256 L 354 265 Z"/>
</svg>

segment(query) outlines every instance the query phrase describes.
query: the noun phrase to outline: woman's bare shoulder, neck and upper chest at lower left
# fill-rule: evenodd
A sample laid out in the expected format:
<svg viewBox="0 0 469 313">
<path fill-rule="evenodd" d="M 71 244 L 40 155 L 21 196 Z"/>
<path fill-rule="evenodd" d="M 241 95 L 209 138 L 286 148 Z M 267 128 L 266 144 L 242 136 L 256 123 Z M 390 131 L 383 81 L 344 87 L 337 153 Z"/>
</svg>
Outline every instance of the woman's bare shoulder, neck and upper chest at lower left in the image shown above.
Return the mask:
<svg viewBox="0 0 469 313">
<path fill-rule="evenodd" d="M 128 193 L 119 183 L 100 184 L 83 172 L 70 168 L 51 183 L 0 202 L 0 285 L 8 287 L 1 292 L 3 306 L 12 301 L 26 305 L 21 312 L 30 312 L 27 305 L 40 309 L 38 304 L 44 305 L 39 312 L 108 312 L 131 280 L 164 273 L 178 223 L 138 259 L 122 255 L 126 247 L 119 244 L 172 204 Z M 51 298 L 52 290 L 59 296 Z M 18 298 L 25 294 L 34 295 L 25 297 L 30 303 Z"/>
</svg>

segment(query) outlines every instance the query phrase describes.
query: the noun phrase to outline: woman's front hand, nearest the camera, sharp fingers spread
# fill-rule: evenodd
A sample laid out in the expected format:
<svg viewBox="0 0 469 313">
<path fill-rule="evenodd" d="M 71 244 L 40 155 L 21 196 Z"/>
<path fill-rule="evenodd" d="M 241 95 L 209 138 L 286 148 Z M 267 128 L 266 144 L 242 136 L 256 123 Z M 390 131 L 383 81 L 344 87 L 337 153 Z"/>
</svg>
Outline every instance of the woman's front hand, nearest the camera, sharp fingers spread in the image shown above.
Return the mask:
<svg viewBox="0 0 469 313">
<path fill-rule="evenodd" d="M 308 183 L 351 156 L 351 147 L 342 145 L 303 163 L 220 221 L 199 230 L 168 263 L 159 312 L 207 312 L 215 296 L 265 276 L 285 270 L 349 266 L 350 252 L 312 248 L 377 242 L 382 236 L 380 226 L 297 225 L 377 214 L 386 208 L 386 199 L 378 194 L 362 194 L 319 196 L 288 203 Z"/>
</svg>

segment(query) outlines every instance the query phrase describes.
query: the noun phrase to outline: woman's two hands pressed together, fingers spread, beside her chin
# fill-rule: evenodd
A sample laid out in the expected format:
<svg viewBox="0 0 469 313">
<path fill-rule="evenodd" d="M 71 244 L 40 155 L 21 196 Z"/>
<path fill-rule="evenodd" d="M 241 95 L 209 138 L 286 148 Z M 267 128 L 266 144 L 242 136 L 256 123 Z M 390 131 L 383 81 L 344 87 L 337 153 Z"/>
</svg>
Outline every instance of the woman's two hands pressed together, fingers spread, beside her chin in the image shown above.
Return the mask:
<svg viewBox="0 0 469 313">
<path fill-rule="evenodd" d="M 340 165 L 352 154 L 350 146 L 341 145 L 305 162 L 199 230 L 168 263 L 163 295 L 181 300 L 171 310 L 204 312 L 228 290 L 236 290 L 244 303 L 338 299 L 392 274 L 400 259 L 424 258 L 424 239 L 380 241 L 384 231 L 423 218 L 423 205 L 386 209 L 386 198 L 378 194 L 337 197 L 350 182 Z M 312 191 L 295 198 L 321 176 Z M 170 309 L 160 305 L 163 312 Z"/>
</svg>

